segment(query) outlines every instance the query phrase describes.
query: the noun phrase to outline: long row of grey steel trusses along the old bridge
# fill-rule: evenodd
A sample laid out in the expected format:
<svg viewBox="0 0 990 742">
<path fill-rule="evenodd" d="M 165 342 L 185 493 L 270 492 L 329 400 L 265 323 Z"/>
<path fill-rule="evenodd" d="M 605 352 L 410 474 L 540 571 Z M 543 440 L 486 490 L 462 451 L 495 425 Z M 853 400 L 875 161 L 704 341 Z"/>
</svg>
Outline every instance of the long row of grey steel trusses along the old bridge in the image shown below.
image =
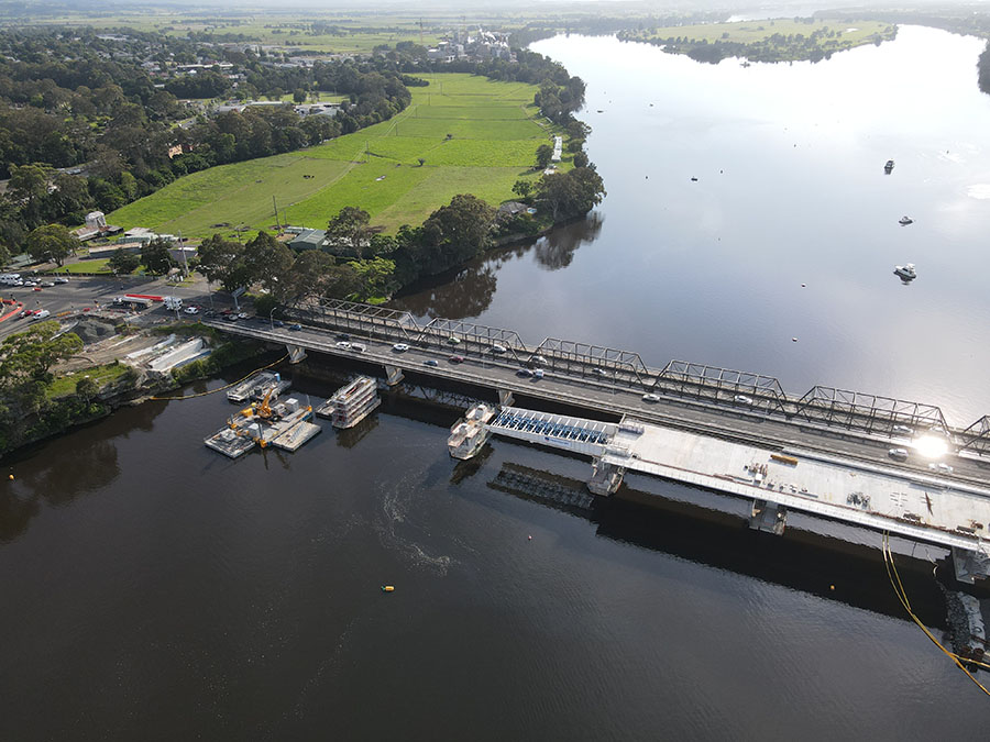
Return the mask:
<svg viewBox="0 0 990 742">
<path fill-rule="evenodd" d="M 883 435 L 931 431 L 946 435 L 961 451 L 990 456 L 990 416 L 960 431 L 950 428 L 942 410 L 933 405 L 826 386 L 814 386 L 799 398 L 789 396 L 777 378 L 754 372 L 689 361 L 671 361 L 656 370 L 631 351 L 558 337 L 547 337 L 532 347 L 513 330 L 443 318 L 424 325 L 406 311 L 341 299 L 298 300 L 285 308 L 285 315 L 300 324 L 389 342 L 449 345 L 465 355 L 491 354 L 498 345 L 505 348 L 506 359 L 540 365 L 554 374 L 592 380 L 597 376 L 600 381 L 616 386 L 694 398 L 754 414 L 798 418 Z"/>
</svg>

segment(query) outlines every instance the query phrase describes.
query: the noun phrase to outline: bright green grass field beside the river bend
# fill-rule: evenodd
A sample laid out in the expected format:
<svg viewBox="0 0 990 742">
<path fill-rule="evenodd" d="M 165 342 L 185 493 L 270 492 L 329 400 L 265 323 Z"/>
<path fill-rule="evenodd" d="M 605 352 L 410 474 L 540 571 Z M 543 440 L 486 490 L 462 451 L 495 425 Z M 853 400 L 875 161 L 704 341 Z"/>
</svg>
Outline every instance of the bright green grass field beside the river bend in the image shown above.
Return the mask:
<svg viewBox="0 0 990 742">
<path fill-rule="evenodd" d="M 413 89 L 409 108 L 391 121 L 186 176 L 107 219 L 124 229 L 204 237 L 229 233 L 221 225 L 274 226 L 274 196 L 282 223 L 322 229 L 342 207 L 356 206 L 392 232 L 419 224 L 458 193 L 497 206 L 513 198 L 516 180 L 538 177 L 536 149 L 550 142 L 535 91 L 468 74 L 436 75 L 429 87 Z"/>
</svg>

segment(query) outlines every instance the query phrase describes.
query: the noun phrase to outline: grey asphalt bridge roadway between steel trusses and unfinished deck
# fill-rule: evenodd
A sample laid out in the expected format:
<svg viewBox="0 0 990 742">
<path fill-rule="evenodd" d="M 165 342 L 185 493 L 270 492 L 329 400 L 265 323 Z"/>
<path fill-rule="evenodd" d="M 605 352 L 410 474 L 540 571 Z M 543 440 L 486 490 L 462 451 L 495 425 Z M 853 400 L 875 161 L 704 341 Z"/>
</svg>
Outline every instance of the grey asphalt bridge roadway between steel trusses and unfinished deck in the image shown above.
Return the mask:
<svg viewBox="0 0 990 742">
<path fill-rule="evenodd" d="M 409 372 L 510 390 L 590 410 L 617 416 L 629 413 L 646 421 L 752 445 L 815 452 L 868 465 L 882 464 L 884 467 L 904 468 L 916 475 L 931 477 L 933 481 L 950 480 L 956 485 L 990 487 L 990 461 L 975 461 L 949 454 L 944 461 L 952 464 L 954 473 L 936 475 L 928 469 L 931 459 L 922 458 L 917 454 L 912 454 L 903 463 L 891 459 L 888 455 L 890 447 L 906 445 L 909 443 L 906 439 L 829 429 L 807 422 L 790 422 L 747 413 L 736 408 L 706 405 L 693 399 L 671 397 L 662 398 L 659 402 L 647 402 L 641 397 L 641 389 L 631 389 L 601 377 L 569 375 L 554 368 L 548 369 L 547 376 L 539 380 L 522 378 L 517 375 L 519 363 L 515 358 L 488 353 L 468 356 L 464 363 L 452 363 L 450 356 L 463 355 L 463 352 L 460 346 L 452 348 L 443 343 L 431 344 L 429 347 L 410 344 L 408 351 L 396 352 L 393 350 L 392 341 L 361 337 L 351 332 L 352 341 L 359 341 L 366 346 L 364 352 L 356 353 L 338 346 L 337 343 L 340 341 L 337 334 L 327 330 L 304 326 L 298 331 L 292 331 L 287 326 L 273 326 L 263 319 L 248 322 L 217 320 L 210 323 L 234 334 L 302 345 L 341 357 L 391 364 Z M 435 361 L 438 365 L 429 366 L 426 364 L 427 361 Z"/>
</svg>

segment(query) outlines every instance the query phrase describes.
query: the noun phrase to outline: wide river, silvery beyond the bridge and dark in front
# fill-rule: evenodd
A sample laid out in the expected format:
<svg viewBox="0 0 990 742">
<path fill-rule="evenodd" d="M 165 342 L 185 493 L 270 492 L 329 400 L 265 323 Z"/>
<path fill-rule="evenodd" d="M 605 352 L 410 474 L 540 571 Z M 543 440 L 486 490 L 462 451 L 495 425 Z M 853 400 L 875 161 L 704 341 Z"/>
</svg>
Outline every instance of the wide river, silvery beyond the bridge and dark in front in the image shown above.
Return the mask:
<svg viewBox="0 0 990 742">
<path fill-rule="evenodd" d="M 406 306 L 789 389 L 990 411 L 980 44 L 905 29 L 820 65 L 748 68 L 603 38 L 537 48 L 588 81 L 608 198 Z M 924 75 L 894 85 L 916 56 Z M 890 275 L 906 259 L 910 287 Z M 286 373 L 319 398 L 350 370 Z M 4 739 L 986 735 L 986 697 L 905 620 L 876 549 L 800 517 L 783 538 L 752 533 L 745 503 L 645 477 L 588 503 L 587 462 L 505 441 L 457 464 L 463 400 L 416 381 L 449 403 L 389 397 L 294 455 L 204 447 L 232 409 L 212 395 L 124 409 L 10 462 Z M 899 551 L 939 633 L 924 560 L 942 554 Z"/>
</svg>

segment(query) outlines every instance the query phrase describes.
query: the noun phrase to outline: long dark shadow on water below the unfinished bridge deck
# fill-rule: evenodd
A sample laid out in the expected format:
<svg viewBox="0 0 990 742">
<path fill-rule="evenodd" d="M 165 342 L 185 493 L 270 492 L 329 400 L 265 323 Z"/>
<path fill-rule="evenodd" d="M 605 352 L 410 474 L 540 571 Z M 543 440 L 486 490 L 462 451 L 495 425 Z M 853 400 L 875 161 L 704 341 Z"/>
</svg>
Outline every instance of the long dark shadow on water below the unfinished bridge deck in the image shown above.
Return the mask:
<svg viewBox="0 0 990 742">
<path fill-rule="evenodd" d="M 472 463 L 458 464 L 452 481 L 471 476 L 458 469 Z M 594 497 L 583 481 L 508 462 L 486 485 L 583 518 L 605 539 L 910 620 L 878 549 L 796 528 L 788 528 L 782 536 L 752 531 L 737 514 L 626 485 L 610 498 Z M 932 578 L 933 564 L 901 555 L 897 561 L 917 616 L 928 627 L 946 628 L 945 600 L 939 583 Z M 952 575 L 952 567 L 943 562 L 938 572 Z"/>
</svg>

